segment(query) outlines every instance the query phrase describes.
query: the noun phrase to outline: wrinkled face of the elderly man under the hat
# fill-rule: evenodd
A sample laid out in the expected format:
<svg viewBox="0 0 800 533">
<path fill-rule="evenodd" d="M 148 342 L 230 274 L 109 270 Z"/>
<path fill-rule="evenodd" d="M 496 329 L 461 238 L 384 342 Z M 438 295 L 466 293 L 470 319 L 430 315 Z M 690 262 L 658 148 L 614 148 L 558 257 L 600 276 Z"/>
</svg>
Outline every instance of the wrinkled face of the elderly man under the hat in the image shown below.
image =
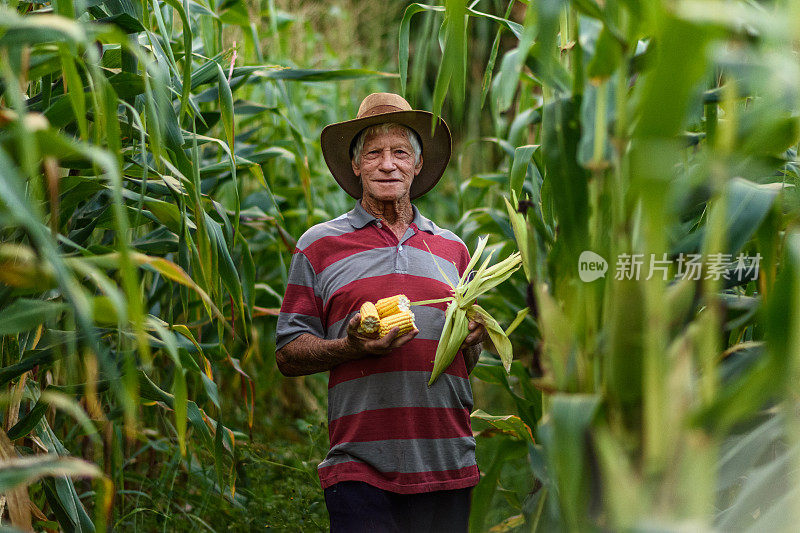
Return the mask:
<svg viewBox="0 0 800 533">
<path fill-rule="evenodd" d="M 403 130 L 376 133 L 364 140 L 353 172 L 361 178 L 364 198 L 397 201 L 409 194 L 411 182 L 422 169 L 422 156 L 414 164 L 414 149 Z"/>
</svg>

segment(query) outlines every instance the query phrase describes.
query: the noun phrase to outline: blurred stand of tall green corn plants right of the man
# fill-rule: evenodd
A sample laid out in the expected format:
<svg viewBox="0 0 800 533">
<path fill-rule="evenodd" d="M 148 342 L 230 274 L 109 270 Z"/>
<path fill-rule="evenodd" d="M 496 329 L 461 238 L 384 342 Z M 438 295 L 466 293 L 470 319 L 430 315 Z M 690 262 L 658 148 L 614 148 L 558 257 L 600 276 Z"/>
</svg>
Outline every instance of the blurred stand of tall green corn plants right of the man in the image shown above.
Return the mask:
<svg viewBox="0 0 800 533">
<path fill-rule="evenodd" d="M 523 355 L 510 378 L 486 353 L 474 371 L 515 412 L 473 414 L 511 435 L 478 441 L 473 529 L 791 527 L 798 4 L 504 7 L 414 4 L 400 27 L 404 87 L 430 60 L 409 52 L 411 20 L 439 17 L 414 46 L 439 37 L 433 109 L 491 116 L 473 142 L 500 163 L 463 170 L 481 205 L 462 234 L 494 231 L 524 258 L 503 297 L 530 309 Z M 476 79 L 468 36 L 486 21 Z M 511 516 L 491 510 L 501 493 Z"/>
</svg>

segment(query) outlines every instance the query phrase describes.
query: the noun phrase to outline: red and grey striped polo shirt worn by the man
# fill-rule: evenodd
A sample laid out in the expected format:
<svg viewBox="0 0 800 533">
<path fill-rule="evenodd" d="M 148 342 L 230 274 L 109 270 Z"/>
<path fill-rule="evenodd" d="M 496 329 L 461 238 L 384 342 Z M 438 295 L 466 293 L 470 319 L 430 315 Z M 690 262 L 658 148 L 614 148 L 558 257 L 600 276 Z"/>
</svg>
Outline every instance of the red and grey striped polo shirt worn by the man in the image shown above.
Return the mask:
<svg viewBox="0 0 800 533">
<path fill-rule="evenodd" d="M 365 301 L 399 293 L 412 302 L 450 295 L 439 268 L 456 283 L 469 252 L 455 234 L 413 209 L 399 241 L 359 202 L 300 237 L 278 317 L 278 349 L 302 333 L 346 336 L 348 322 Z M 413 340 L 387 355 L 366 355 L 331 369 L 331 447 L 318 468 L 323 488 L 364 481 L 411 494 L 478 483 L 469 419 L 472 389 L 463 354 L 427 384 L 445 304 L 412 310 L 419 329 Z"/>
</svg>

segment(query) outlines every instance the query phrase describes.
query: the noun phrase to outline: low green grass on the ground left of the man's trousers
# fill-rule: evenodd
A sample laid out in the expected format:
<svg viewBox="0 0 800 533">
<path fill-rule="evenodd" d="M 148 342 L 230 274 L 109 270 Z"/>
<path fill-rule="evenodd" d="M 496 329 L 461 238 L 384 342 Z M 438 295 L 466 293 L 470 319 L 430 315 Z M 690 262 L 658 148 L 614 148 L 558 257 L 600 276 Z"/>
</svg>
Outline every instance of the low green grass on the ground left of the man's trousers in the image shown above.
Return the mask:
<svg viewBox="0 0 800 533">
<path fill-rule="evenodd" d="M 137 531 L 327 531 L 316 473 L 327 438 L 324 417 L 314 413 L 257 424 L 252 440 L 237 448 L 235 503 L 230 493 L 220 498 L 203 489 L 213 479 L 213 456 L 198 457 L 194 475 L 178 462 L 155 463 L 146 477 L 130 481 L 126 500 L 131 503 L 120 508 L 116 526 Z"/>
</svg>

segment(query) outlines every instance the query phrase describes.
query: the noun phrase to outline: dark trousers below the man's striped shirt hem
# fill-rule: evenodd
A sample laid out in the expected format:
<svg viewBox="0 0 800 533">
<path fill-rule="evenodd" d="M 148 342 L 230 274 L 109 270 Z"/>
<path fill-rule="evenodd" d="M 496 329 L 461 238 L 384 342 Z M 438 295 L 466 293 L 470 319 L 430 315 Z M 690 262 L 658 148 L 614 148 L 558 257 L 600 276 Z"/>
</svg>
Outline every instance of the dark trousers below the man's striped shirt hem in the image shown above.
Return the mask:
<svg viewBox="0 0 800 533">
<path fill-rule="evenodd" d="M 397 494 L 362 481 L 325 489 L 331 533 L 459 532 L 469 526 L 472 488 Z"/>
</svg>

